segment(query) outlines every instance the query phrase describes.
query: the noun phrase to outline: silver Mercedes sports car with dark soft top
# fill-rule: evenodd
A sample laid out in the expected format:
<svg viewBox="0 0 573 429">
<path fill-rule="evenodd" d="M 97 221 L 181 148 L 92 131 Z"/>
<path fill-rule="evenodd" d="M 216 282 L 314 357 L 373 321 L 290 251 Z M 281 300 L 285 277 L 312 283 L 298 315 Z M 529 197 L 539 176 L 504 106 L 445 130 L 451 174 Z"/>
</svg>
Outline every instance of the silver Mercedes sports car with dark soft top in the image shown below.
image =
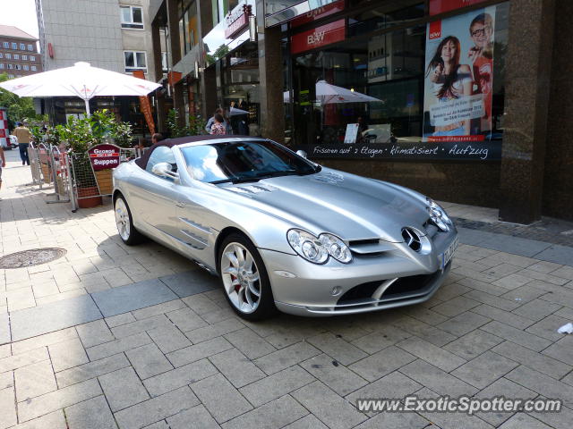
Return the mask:
<svg viewBox="0 0 573 429">
<path fill-rule="evenodd" d="M 115 169 L 114 206 L 126 244 L 145 235 L 220 276 L 246 319 L 423 302 L 458 246 L 432 199 L 268 139 L 163 140 Z"/>
</svg>

